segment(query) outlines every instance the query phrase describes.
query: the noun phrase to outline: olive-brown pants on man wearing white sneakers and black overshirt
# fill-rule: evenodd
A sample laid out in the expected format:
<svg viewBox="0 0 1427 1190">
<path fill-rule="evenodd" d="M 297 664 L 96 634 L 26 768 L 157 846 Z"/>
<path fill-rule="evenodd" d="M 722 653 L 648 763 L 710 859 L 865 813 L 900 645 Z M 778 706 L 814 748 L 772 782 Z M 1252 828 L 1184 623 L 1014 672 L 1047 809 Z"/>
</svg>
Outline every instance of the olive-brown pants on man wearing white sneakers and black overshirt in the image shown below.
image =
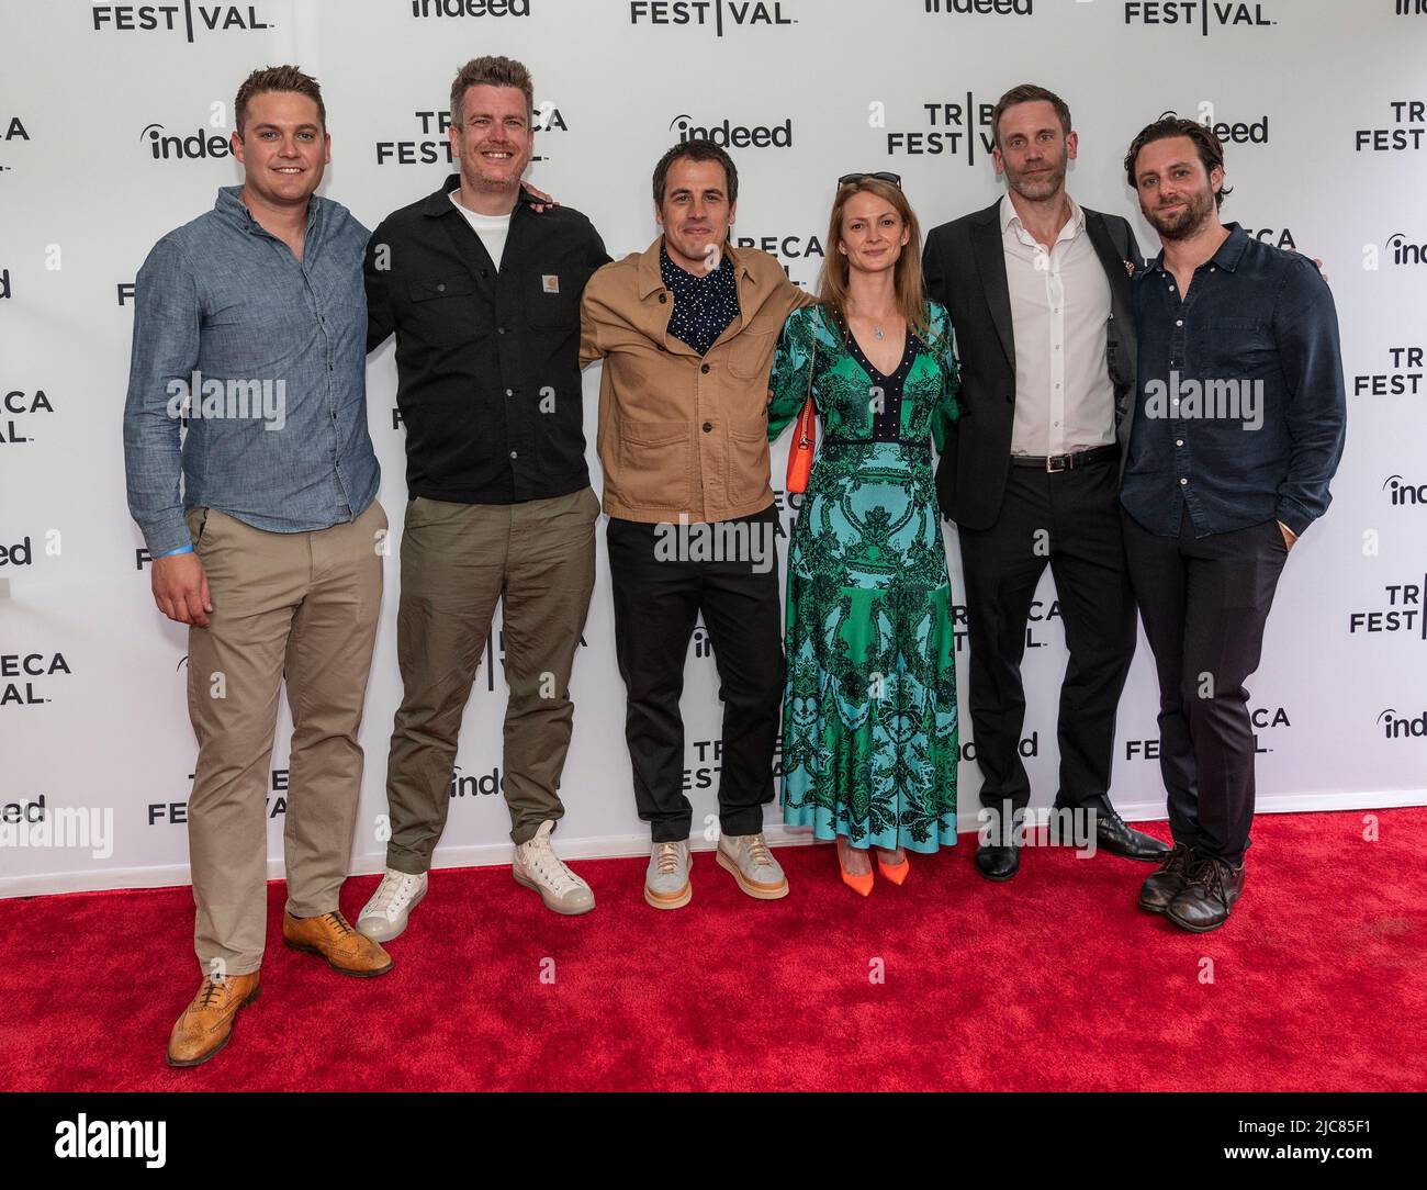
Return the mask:
<svg viewBox="0 0 1427 1190">
<path fill-rule="evenodd" d="M 387 866 L 418 875 L 445 829 L 461 716 L 495 604 L 504 599 L 504 780 L 511 839 L 525 843 L 565 809 L 569 673 L 595 584 L 591 488 L 522 504 L 417 497 L 401 538 L 397 659 L 402 701 L 387 761 Z"/>
</svg>

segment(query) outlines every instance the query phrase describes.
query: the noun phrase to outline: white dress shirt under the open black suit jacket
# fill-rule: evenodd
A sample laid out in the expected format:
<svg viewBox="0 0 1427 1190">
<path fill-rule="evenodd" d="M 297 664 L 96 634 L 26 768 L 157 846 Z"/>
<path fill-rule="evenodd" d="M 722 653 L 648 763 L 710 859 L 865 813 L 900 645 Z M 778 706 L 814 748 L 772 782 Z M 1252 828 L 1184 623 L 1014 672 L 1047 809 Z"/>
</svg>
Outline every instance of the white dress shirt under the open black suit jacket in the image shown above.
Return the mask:
<svg viewBox="0 0 1427 1190">
<path fill-rule="evenodd" d="M 1070 201 L 1070 220 L 1047 253 L 1000 200 L 1000 240 L 1016 340 L 1010 452 L 1060 455 L 1114 441 L 1114 385 L 1106 345 L 1110 281 Z"/>
</svg>

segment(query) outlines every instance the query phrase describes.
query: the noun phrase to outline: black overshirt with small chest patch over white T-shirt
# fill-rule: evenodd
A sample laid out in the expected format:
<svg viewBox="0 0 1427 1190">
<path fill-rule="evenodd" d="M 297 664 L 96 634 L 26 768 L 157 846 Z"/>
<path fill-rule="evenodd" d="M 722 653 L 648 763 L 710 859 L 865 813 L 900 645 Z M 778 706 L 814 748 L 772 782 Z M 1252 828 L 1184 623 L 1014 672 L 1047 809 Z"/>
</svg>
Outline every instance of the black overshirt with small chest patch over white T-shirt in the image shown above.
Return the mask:
<svg viewBox="0 0 1427 1190">
<path fill-rule="evenodd" d="M 608 263 L 579 211 L 521 198 L 499 270 L 455 208 L 452 174 L 394 211 L 367 244 L 368 351 L 397 335 L 407 491 L 515 504 L 589 482 L 579 297 Z"/>
</svg>

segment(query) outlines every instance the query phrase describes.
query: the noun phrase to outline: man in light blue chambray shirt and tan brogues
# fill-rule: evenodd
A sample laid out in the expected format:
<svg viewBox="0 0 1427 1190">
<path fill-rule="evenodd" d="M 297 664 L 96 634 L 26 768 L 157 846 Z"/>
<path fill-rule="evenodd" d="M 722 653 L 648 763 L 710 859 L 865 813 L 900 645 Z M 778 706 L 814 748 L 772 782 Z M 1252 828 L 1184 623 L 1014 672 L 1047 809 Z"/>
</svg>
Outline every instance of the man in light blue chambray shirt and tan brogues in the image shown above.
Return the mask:
<svg viewBox="0 0 1427 1190">
<path fill-rule="evenodd" d="M 387 528 L 367 431 L 368 231 L 314 194 L 331 160 L 315 80 L 254 71 L 234 116 L 243 185 L 164 235 L 138 273 L 124 408 L 128 508 L 158 611 L 190 625 L 198 738 L 188 849 L 203 985 L 174 1024 L 171 1066 L 217 1053 L 258 996 L 284 679 L 284 942 L 345 975 L 391 969 L 338 912 Z"/>
</svg>

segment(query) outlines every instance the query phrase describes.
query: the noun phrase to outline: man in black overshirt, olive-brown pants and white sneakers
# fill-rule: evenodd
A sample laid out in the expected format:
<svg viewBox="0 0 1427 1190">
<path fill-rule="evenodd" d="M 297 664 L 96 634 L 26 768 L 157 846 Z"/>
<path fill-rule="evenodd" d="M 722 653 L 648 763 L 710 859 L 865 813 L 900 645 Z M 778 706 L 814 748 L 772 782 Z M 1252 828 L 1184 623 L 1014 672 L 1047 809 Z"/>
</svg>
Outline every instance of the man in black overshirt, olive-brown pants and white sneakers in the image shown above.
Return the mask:
<svg viewBox="0 0 1427 1190">
<path fill-rule="evenodd" d="M 594 909 L 555 856 L 568 683 L 595 576 L 599 499 L 585 465 L 579 298 L 609 257 L 569 207 L 532 208 L 529 73 L 477 59 L 451 88 L 459 173 L 388 215 L 367 247 L 368 350 L 397 335 L 407 429 L 387 876 L 357 927 L 405 929 L 445 826 L 461 715 L 504 602 L 502 790 L 515 878 L 558 913 Z"/>
</svg>

